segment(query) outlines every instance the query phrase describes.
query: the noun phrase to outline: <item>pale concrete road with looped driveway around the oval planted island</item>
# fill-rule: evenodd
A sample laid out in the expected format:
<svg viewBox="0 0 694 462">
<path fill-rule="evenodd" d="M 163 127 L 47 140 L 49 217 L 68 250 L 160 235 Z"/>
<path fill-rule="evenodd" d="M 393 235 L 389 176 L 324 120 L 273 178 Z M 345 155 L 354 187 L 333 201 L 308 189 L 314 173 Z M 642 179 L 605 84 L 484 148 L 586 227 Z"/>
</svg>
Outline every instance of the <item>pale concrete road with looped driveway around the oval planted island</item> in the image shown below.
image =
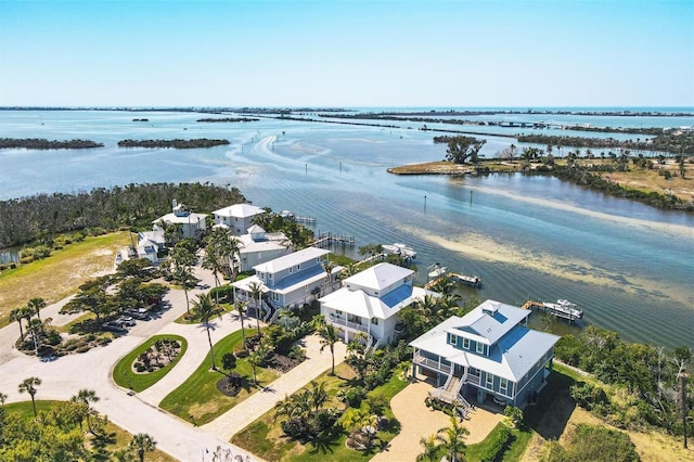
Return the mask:
<svg viewBox="0 0 694 462">
<path fill-rule="evenodd" d="M 196 268 L 196 275 L 204 284 L 214 286 L 214 278 L 202 268 Z M 189 291 L 194 299 L 202 290 Z M 18 337 L 18 325 L 12 323 L 0 330 L 0 392 L 8 395 L 8 402 L 25 401 L 26 394 L 17 392 L 18 384 L 27 377 L 40 377 L 42 383 L 37 387 L 37 399 L 69 399 L 82 388 L 93 389 L 101 399 L 93 405 L 100 413 L 124 429 L 137 434 L 147 433 L 157 441 L 157 448 L 180 461 L 211 461 L 217 447 L 231 450 L 245 460 L 258 460 L 241 448 L 218 439 L 194 428 L 187 422 L 168 414 L 156 406 L 160 399 L 182 383 L 192 370 L 200 365 L 208 351 L 207 334 L 200 325 L 181 325 L 172 321 L 185 312 L 183 291 L 171 290 L 165 297 L 171 308 L 159 318 L 138 324 L 127 335 L 115 338 L 110 345 L 93 348 L 81 355 L 69 355 L 52 362 L 41 362 L 36 357 L 26 356 L 14 348 Z M 67 299 L 41 310 L 41 317 L 52 317 L 56 325 L 62 325 L 75 316 L 57 315 Z M 229 318 L 214 323 L 213 342 L 240 329 L 237 322 Z M 128 390 L 116 386 L 111 378 L 111 371 L 118 360 L 131 351 L 150 336 L 163 333 L 182 335 L 188 339 L 188 351 L 167 376 L 152 387 L 151 390 L 129 396 Z"/>
</svg>

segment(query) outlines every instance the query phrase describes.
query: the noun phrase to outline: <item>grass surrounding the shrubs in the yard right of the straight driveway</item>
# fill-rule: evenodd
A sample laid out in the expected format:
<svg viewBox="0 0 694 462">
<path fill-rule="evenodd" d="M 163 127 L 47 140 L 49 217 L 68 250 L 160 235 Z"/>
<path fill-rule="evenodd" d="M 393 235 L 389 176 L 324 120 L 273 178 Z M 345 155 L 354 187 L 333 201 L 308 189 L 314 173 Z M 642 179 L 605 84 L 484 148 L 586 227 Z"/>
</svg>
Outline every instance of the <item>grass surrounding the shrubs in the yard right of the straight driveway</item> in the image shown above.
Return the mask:
<svg viewBox="0 0 694 462">
<path fill-rule="evenodd" d="M 335 375 L 330 375 L 329 372 L 330 371 L 326 371 L 316 378 L 319 383 L 325 383 L 325 388 L 330 396 L 324 407 L 335 406 L 342 409 L 345 405 L 337 400 L 336 395 L 340 389 L 346 389 L 354 384 L 355 373 L 345 363 L 335 367 Z M 390 399 L 407 385 L 407 382 L 394 376 L 386 384 L 370 392 L 369 396 L 376 394 L 382 395 L 386 398 L 387 402 L 390 402 Z M 282 398 L 283 397 L 278 397 L 278 399 Z M 367 406 L 365 400 L 361 406 Z M 339 420 L 334 427 L 334 432 L 303 445 L 300 441 L 291 439 L 284 435 L 280 427 L 280 421 L 274 420 L 274 410 L 265 413 L 236 434 L 231 442 L 265 460 L 271 461 L 368 461 L 380 450 L 381 445 L 378 445 L 378 442 L 385 445 L 399 432 L 399 424 L 395 420 L 395 415 L 389 407 L 386 408 L 385 415 L 389 419 L 390 425 L 385 431 L 378 432 L 375 447 L 368 451 L 357 451 L 345 446 L 345 440 L 348 435 L 347 432 L 343 429 Z"/>
</svg>

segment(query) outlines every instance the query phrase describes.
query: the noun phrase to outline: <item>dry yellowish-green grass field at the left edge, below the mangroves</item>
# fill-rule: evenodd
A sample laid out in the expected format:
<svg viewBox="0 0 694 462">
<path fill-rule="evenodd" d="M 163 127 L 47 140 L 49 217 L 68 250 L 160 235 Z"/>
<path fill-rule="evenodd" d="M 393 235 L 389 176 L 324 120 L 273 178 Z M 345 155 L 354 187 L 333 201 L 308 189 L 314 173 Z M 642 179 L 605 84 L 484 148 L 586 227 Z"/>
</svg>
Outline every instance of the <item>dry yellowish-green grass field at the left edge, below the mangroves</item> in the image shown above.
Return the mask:
<svg viewBox="0 0 694 462">
<path fill-rule="evenodd" d="M 36 260 L 0 273 L 0 326 L 8 325 L 11 310 L 33 298 L 47 304 L 77 292 L 83 282 L 113 269 L 116 252 L 130 245 L 127 231 L 90 236 Z"/>
</svg>

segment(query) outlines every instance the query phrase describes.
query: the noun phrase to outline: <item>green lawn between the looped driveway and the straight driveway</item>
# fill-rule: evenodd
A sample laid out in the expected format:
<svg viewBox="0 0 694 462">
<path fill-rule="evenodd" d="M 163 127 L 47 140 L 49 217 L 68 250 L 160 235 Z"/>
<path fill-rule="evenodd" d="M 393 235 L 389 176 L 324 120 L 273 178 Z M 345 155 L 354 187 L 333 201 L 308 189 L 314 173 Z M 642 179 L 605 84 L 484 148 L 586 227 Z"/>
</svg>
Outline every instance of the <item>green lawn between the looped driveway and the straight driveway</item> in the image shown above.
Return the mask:
<svg viewBox="0 0 694 462">
<path fill-rule="evenodd" d="M 253 332 L 246 330 L 246 335 L 253 335 Z M 236 331 L 215 345 L 215 363 L 218 368 L 221 357 L 233 351 L 241 342 L 241 331 Z M 221 370 L 211 371 L 209 357 L 206 357 L 185 382 L 164 398 L 159 407 L 187 422 L 191 421 L 192 415 L 197 425 L 211 422 L 259 389 L 253 383 L 253 367 L 246 358 L 239 358 L 234 372 L 243 377 L 243 387 L 239 395 L 226 396 L 217 389 L 217 382 L 223 377 L 223 373 Z M 264 368 L 257 368 L 257 376 L 261 385 L 278 377 L 277 373 Z"/>
</svg>

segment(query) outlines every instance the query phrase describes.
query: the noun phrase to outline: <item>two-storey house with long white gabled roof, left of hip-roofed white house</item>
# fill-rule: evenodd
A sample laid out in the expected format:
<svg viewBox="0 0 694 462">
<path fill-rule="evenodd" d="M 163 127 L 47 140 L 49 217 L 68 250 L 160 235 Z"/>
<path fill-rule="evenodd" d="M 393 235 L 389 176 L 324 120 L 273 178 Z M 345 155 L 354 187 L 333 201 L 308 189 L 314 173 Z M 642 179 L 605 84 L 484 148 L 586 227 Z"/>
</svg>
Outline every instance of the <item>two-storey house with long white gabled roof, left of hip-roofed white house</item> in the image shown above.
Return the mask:
<svg viewBox="0 0 694 462">
<path fill-rule="evenodd" d="M 256 265 L 255 275 L 235 281 L 234 299 L 247 300 L 252 311 L 259 306 L 266 311 L 266 319 L 281 308 L 298 308 L 327 294 L 335 287 L 336 275 L 343 267 L 331 269 L 330 278 L 323 265 L 327 262 L 330 251 L 308 247 L 273 260 Z M 261 301 L 252 296 L 253 285 L 262 293 Z M 256 313 L 257 316 L 257 313 Z"/>
</svg>

